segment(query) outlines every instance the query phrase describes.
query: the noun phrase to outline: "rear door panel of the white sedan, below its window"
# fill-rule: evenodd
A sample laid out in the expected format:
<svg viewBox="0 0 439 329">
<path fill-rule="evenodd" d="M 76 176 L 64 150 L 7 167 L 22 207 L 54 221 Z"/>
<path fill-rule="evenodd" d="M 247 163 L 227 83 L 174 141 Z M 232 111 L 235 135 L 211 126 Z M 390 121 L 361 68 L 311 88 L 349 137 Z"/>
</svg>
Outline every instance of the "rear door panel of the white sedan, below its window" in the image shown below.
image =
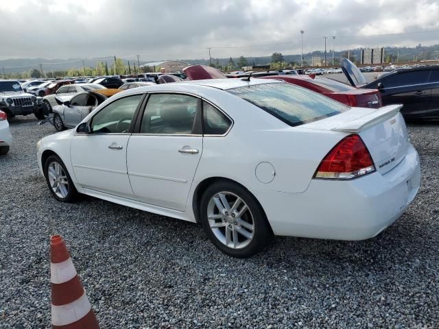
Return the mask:
<svg viewBox="0 0 439 329">
<path fill-rule="evenodd" d="M 180 153 L 197 149 L 198 154 Z M 132 190 L 147 204 L 183 211 L 202 154 L 202 136 L 132 135 L 127 164 Z"/>
</svg>

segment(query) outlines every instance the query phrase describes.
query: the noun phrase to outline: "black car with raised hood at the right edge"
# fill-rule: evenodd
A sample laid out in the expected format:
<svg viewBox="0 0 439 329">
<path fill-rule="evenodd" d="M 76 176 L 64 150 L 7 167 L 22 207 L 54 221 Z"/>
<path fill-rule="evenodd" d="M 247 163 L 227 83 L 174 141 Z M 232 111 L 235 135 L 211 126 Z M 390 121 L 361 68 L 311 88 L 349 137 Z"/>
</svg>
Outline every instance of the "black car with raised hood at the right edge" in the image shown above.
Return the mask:
<svg viewBox="0 0 439 329">
<path fill-rule="evenodd" d="M 405 119 L 439 118 L 439 66 L 395 69 L 369 83 L 346 58 L 342 69 L 352 86 L 378 89 L 383 105 L 403 104 L 401 114 Z"/>
</svg>

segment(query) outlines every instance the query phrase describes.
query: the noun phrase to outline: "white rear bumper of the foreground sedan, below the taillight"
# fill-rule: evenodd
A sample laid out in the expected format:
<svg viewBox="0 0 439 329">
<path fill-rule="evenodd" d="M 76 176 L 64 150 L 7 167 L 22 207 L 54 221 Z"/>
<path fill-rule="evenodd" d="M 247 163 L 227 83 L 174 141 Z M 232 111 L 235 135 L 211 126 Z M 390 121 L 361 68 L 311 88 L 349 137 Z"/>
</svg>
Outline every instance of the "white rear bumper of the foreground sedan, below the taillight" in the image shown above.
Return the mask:
<svg viewBox="0 0 439 329">
<path fill-rule="evenodd" d="M 276 235 L 364 240 L 398 219 L 420 187 L 412 145 L 394 169 L 350 181 L 312 180 L 304 193 L 252 191 Z"/>
</svg>

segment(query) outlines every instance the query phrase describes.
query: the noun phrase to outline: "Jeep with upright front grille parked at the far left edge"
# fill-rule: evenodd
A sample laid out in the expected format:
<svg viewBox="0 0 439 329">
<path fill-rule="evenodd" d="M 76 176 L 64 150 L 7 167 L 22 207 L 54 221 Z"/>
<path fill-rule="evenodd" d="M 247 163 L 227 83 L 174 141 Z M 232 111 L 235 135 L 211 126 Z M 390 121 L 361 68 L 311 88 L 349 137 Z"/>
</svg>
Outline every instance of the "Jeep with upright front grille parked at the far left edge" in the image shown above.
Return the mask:
<svg viewBox="0 0 439 329">
<path fill-rule="evenodd" d="M 36 106 L 36 97 L 25 93 L 16 80 L 0 80 L 0 110 L 11 118 L 33 113 L 37 119 L 44 119 Z"/>
</svg>

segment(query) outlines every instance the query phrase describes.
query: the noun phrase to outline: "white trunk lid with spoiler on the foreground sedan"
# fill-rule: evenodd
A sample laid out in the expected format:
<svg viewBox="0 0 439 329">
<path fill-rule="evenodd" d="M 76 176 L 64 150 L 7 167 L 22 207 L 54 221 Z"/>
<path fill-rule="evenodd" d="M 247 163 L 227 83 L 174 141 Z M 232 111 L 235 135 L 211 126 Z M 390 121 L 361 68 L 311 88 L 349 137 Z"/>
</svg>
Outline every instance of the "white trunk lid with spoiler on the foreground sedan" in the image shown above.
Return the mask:
<svg viewBox="0 0 439 329">
<path fill-rule="evenodd" d="M 300 127 L 359 134 L 379 173 L 387 173 L 403 160 L 409 147 L 407 127 L 399 113 L 402 105 L 373 110 L 352 108 L 327 119 Z"/>
</svg>

